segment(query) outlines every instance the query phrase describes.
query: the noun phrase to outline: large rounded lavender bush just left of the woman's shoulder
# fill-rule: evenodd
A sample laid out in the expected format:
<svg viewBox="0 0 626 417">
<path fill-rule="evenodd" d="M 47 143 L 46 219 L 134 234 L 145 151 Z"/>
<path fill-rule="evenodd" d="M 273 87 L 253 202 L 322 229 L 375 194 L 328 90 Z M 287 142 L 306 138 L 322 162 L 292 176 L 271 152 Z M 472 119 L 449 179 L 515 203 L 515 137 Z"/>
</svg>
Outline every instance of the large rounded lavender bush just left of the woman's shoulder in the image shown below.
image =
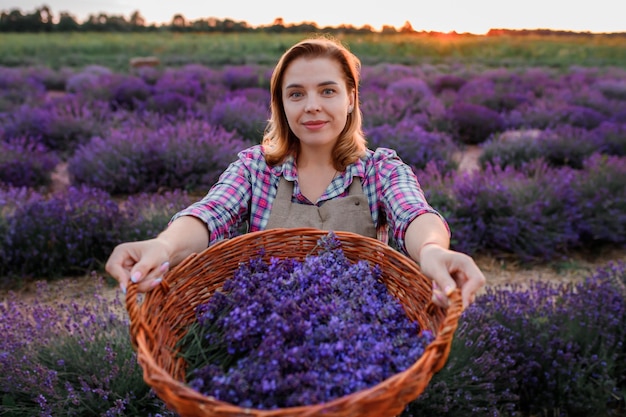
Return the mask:
<svg viewBox="0 0 626 417">
<path fill-rule="evenodd" d="M 202 120 L 170 124 L 146 120 L 157 127 L 129 124 L 94 137 L 68 161 L 73 183 L 100 188 L 114 195 L 160 190 L 205 189 L 217 178 L 243 140 Z"/>
</svg>

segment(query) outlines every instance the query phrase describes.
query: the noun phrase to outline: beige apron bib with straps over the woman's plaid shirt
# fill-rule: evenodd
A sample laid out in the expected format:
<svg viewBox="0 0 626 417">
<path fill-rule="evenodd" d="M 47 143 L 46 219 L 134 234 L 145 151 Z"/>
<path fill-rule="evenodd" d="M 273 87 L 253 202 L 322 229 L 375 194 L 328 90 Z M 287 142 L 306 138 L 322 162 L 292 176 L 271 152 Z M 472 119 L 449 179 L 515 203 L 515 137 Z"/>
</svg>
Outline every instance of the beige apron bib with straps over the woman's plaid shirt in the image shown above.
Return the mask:
<svg viewBox="0 0 626 417">
<path fill-rule="evenodd" d="M 376 227 L 359 177 L 353 178 L 348 196 L 327 200 L 319 207 L 292 203 L 292 195 L 293 182 L 281 177 L 266 229 L 314 227 L 376 238 Z"/>
</svg>

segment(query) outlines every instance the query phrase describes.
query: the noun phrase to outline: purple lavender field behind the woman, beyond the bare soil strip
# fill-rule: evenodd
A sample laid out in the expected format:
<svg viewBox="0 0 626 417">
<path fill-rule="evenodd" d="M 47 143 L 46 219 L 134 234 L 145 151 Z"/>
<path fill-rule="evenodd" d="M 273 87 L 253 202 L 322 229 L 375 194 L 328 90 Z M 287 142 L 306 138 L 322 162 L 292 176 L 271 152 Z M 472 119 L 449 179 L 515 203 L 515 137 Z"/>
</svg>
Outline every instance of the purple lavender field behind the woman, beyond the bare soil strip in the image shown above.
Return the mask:
<svg viewBox="0 0 626 417">
<path fill-rule="evenodd" d="M 0 69 L 0 276 L 84 273 L 157 232 L 259 142 L 269 71 Z M 626 71 L 379 64 L 361 101 L 370 147 L 419 173 L 456 249 L 545 262 L 626 242 Z"/>
</svg>

